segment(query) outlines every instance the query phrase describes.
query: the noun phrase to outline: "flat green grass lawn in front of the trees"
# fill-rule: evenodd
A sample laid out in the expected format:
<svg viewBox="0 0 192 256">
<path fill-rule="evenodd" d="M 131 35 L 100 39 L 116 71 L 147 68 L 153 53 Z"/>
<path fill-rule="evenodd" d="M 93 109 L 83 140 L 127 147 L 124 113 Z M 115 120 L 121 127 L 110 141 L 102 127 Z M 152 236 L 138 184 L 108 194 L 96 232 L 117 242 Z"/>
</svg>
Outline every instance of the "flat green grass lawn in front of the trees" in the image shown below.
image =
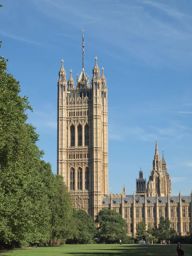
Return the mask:
<svg viewBox="0 0 192 256">
<path fill-rule="evenodd" d="M 192 244 L 183 244 L 185 256 L 192 256 Z M 177 244 L 79 244 L 37 249 L 10 250 L 3 256 L 177 256 Z"/>
</svg>

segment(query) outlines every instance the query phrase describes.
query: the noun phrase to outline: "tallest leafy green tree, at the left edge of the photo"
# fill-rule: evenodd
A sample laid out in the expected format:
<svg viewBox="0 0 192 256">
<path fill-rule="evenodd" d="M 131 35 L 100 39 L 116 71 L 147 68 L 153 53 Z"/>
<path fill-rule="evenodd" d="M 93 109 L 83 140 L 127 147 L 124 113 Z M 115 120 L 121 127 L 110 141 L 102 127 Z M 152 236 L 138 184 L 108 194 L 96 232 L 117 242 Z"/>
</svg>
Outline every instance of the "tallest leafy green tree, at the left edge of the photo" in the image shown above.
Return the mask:
<svg viewBox="0 0 192 256">
<path fill-rule="evenodd" d="M 0 239 L 35 243 L 50 234 L 49 198 L 39 172 L 43 151 L 35 144 L 35 128 L 26 123 L 32 108 L 6 63 L 0 57 Z"/>
</svg>

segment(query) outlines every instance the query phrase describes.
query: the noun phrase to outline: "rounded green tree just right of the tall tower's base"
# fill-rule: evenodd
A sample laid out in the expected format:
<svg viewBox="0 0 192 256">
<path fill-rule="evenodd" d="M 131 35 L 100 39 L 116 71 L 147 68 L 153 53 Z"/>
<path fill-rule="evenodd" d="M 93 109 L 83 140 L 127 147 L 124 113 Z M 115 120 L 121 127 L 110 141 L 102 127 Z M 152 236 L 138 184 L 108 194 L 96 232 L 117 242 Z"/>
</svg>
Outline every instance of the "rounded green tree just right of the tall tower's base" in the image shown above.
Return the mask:
<svg viewBox="0 0 192 256">
<path fill-rule="evenodd" d="M 109 209 L 102 209 L 96 215 L 96 224 L 98 225 L 96 238 L 102 243 L 118 243 L 121 239 L 125 241 L 127 233 L 125 231 L 125 220 L 122 216 Z"/>
</svg>

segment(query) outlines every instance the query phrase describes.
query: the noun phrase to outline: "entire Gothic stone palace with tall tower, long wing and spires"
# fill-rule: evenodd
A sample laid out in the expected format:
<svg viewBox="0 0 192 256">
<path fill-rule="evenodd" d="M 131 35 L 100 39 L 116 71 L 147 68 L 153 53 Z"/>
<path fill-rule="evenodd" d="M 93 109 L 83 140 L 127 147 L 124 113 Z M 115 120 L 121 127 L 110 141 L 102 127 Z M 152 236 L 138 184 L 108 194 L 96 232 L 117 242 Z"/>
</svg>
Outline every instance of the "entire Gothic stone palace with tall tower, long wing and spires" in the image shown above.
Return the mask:
<svg viewBox="0 0 192 256">
<path fill-rule="evenodd" d="M 140 170 L 136 193 L 108 192 L 108 87 L 104 68 L 97 57 L 90 80 L 82 67 L 76 83 L 72 70 L 67 80 L 64 61 L 58 79 L 57 173 L 64 177 L 73 207 L 93 218 L 101 209 L 114 209 L 126 221 L 129 236 L 135 236 L 140 221 L 146 228 L 169 217 L 171 228 L 185 235 L 192 231 L 192 193 L 171 195 L 171 178 L 164 154 L 159 155 L 157 139 L 149 179 Z"/>
</svg>

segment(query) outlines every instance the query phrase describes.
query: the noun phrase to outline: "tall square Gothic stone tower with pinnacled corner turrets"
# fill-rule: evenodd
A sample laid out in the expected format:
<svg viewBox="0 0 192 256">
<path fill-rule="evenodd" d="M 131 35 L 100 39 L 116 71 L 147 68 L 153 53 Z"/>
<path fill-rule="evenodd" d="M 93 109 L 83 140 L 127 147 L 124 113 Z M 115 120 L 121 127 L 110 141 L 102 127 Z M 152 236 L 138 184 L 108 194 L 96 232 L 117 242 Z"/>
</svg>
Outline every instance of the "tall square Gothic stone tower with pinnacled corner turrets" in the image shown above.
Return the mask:
<svg viewBox="0 0 192 256">
<path fill-rule="evenodd" d="M 108 90 L 104 68 L 95 58 L 91 86 L 82 68 L 76 87 L 67 81 L 61 61 L 58 79 L 57 173 L 73 198 L 73 207 L 94 217 L 108 194 Z"/>
</svg>

